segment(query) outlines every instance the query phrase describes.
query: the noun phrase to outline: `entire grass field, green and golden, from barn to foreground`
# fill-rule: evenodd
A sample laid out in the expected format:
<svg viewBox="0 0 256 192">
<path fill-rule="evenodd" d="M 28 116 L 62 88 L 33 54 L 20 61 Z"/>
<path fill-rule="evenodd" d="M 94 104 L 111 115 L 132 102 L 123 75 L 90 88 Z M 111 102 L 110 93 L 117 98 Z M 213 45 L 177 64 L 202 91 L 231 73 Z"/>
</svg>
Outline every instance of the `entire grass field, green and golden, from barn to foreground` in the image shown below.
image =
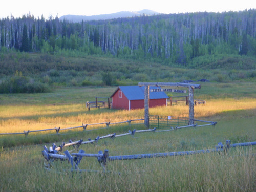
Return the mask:
<svg viewBox="0 0 256 192">
<path fill-rule="evenodd" d="M 95 96 L 108 97 L 115 89 L 59 88 L 46 94 L 2 94 L 0 132 L 144 118 L 144 110 L 86 109 L 86 101 L 93 101 Z M 80 148 L 87 153 L 107 148 L 110 156 L 115 156 L 214 148 L 226 139 L 231 143 L 256 141 L 255 83 L 201 83 L 201 89 L 195 90 L 195 98 L 206 100 L 206 105 L 195 106 L 195 118 L 217 121 L 216 126 L 136 133 L 135 137 L 104 139 Z M 187 117 L 188 107 L 153 108 L 150 114 Z M 113 161 L 107 166 L 110 173 L 105 174 L 96 158 L 83 158 L 79 167 L 98 170 L 98 173 L 59 174 L 44 169 L 45 160 L 41 155 L 44 145 L 49 147 L 53 142 L 59 145 L 69 139 L 85 141 L 133 129 L 144 127 L 118 125 L 60 135 L 0 136 L 0 191 L 255 191 L 255 146 L 232 148 L 227 154 Z M 69 169 L 68 162 L 55 163 L 54 170 L 62 172 L 62 168 Z"/>
</svg>

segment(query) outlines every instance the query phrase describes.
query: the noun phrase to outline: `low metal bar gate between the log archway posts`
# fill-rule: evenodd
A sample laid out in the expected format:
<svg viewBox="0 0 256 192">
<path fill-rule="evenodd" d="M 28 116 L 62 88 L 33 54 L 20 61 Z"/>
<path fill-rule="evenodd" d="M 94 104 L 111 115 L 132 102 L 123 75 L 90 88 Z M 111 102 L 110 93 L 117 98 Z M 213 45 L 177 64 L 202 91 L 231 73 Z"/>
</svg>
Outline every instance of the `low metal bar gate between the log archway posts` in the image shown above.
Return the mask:
<svg viewBox="0 0 256 192">
<path fill-rule="evenodd" d="M 186 117 L 150 115 L 150 127 L 169 128 L 171 126 L 186 126 L 189 121 Z"/>
</svg>

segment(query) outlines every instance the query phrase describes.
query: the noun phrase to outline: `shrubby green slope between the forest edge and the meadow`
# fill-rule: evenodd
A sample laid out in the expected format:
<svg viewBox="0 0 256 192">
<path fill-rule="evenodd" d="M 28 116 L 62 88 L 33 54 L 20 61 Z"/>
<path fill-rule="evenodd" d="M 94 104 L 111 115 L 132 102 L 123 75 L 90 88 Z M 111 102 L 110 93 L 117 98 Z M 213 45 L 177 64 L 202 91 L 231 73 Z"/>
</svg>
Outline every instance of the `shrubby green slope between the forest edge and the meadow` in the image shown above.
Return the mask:
<svg viewBox="0 0 256 192">
<path fill-rule="evenodd" d="M 185 67 L 103 56 L 2 53 L 0 93 L 46 92 L 56 86 L 130 85 L 143 81 L 255 81 L 255 63 L 254 57 L 224 54 L 198 57 Z"/>
</svg>

